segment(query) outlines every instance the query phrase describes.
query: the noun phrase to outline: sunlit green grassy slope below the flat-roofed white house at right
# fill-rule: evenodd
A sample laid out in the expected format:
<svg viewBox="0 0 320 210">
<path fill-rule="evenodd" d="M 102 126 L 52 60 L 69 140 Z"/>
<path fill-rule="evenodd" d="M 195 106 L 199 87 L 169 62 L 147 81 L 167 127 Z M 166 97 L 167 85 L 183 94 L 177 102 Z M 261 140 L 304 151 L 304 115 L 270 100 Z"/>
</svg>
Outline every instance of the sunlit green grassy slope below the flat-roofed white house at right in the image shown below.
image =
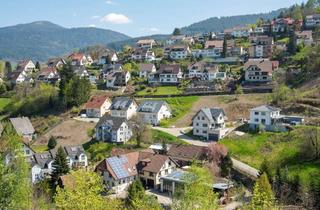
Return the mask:
<svg viewBox="0 0 320 210">
<path fill-rule="evenodd" d="M 311 173 L 320 172 L 320 162 L 302 161 L 300 157 L 301 139 L 295 138 L 299 129 L 289 133 L 262 133 L 233 136 L 221 141 L 232 156 L 257 169 L 264 159 L 275 171 L 277 166 L 287 169 L 290 178 L 299 175 L 306 186 Z"/>
</svg>

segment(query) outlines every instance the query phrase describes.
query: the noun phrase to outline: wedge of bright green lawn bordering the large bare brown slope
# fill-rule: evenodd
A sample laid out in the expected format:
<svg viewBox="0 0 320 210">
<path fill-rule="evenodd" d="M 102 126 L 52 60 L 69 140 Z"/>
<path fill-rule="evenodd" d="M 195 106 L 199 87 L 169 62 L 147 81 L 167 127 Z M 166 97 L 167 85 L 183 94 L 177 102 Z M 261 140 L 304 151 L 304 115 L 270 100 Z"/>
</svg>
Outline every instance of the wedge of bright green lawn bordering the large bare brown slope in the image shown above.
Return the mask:
<svg viewBox="0 0 320 210">
<path fill-rule="evenodd" d="M 171 110 L 173 117 L 161 122 L 161 126 L 168 127 L 173 125 L 177 120 L 182 118 L 192 108 L 192 105 L 199 99 L 199 96 L 164 98 Z"/>
</svg>

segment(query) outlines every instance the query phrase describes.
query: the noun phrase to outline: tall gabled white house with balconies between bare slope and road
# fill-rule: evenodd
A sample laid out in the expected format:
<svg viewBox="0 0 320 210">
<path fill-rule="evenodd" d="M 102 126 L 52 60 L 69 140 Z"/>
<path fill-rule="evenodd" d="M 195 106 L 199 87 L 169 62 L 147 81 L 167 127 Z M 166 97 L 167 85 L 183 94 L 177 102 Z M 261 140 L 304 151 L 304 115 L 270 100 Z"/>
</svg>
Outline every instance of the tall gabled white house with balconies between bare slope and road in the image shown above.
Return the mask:
<svg viewBox="0 0 320 210">
<path fill-rule="evenodd" d="M 221 108 L 203 108 L 192 119 L 193 135 L 206 140 L 220 140 L 228 129 L 225 127 L 226 115 Z"/>
</svg>

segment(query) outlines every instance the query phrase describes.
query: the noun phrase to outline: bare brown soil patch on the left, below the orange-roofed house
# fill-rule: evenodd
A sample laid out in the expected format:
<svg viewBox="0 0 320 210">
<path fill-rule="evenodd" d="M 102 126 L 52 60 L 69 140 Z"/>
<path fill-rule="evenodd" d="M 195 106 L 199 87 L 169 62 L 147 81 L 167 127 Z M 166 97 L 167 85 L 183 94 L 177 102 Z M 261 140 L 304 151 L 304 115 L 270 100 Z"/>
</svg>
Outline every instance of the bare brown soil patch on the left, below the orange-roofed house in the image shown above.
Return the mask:
<svg viewBox="0 0 320 210">
<path fill-rule="evenodd" d="M 94 128 L 95 123 L 80 122 L 68 119 L 44 135 L 40 136 L 34 143 L 37 145 L 47 145 L 51 136 L 57 138 L 58 146 L 76 146 L 89 141 L 88 129 Z"/>
</svg>

